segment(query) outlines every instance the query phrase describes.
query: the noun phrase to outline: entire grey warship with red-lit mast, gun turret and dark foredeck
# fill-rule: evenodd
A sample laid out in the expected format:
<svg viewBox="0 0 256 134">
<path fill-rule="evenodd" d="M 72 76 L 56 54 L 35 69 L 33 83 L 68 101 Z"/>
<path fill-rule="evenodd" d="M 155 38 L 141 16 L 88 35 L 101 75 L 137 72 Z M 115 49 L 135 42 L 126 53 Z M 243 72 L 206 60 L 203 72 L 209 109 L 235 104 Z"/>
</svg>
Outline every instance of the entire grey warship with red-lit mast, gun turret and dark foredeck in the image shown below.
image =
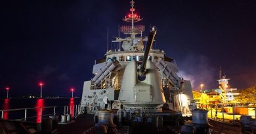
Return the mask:
<svg viewBox="0 0 256 134">
<path fill-rule="evenodd" d="M 143 36 L 145 26 L 135 25 L 142 18 L 135 12 L 135 1 L 130 3 L 123 18 L 129 25 L 119 27 L 125 38 L 112 41 L 118 43 L 118 50 L 108 49 L 104 58 L 95 60 L 95 76 L 83 84 L 81 114 L 93 114 L 95 124 L 108 127 L 117 122 L 135 129 L 145 120 L 157 127 L 177 125 L 196 109 L 190 80 L 177 75 L 175 59 L 152 49 L 157 29 L 152 26 L 148 37 Z"/>
</svg>

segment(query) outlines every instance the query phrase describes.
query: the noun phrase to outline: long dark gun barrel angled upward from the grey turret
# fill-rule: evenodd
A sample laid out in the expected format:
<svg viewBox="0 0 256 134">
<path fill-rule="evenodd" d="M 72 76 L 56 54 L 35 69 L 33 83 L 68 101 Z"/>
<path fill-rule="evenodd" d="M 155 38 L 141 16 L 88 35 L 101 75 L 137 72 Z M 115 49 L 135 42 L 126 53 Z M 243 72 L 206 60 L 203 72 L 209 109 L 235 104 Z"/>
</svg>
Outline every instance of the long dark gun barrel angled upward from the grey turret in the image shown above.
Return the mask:
<svg viewBox="0 0 256 134">
<path fill-rule="evenodd" d="M 155 26 L 150 28 L 150 33 L 148 35 L 148 42 L 146 42 L 146 48 L 145 48 L 145 52 L 144 52 L 144 57 L 143 57 L 142 65 L 140 66 L 139 75 L 144 75 L 145 74 L 146 61 L 148 59 L 148 54 L 150 53 L 152 44 L 154 42 L 156 31 L 157 31 L 157 29 L 156 29 Z"/>
</svg>

